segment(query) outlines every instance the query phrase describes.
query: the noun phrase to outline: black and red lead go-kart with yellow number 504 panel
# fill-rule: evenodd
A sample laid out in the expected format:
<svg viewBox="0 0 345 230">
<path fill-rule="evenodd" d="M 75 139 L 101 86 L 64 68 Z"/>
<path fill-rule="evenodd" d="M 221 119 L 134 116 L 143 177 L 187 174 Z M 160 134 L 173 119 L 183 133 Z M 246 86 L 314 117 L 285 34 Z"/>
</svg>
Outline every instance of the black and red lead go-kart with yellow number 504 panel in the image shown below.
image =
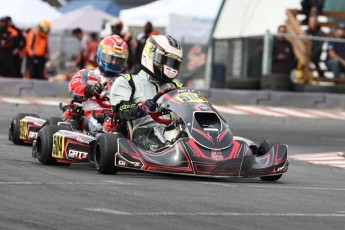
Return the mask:
<svg viewBox="0 0 345 230">
<path fill-rule="evenodd" d="M 37 158 L 43 164 L 93 161 L 101 174 L 119 168 L 202 177 L 260 177 L 279 180 L 287 172 L 287 146 L 265 140 L 233 136 L 229 125 L 201 92 L 190 89 L 161 90 L 154 101 L 154 121 L 164 124 L 170 144 L 156 151 L 139 148 L 121 132 L 95 137 L 45 126 L 38 133 Z"/>
</svg>

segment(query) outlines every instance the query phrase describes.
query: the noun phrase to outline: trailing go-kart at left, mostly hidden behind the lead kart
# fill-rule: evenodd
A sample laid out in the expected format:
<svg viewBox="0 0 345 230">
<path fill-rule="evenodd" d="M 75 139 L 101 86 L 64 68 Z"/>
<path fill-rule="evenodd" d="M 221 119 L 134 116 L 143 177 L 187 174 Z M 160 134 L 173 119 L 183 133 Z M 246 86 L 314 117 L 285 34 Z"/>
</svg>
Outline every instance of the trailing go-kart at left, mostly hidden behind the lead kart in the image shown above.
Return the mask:
<svg viewBox="0 0 345 230">
<path fill-rule="evenodd" d="M 8 131 L 8 140 L 16 145 L 31 144 L 36 140 L 38 131 L 45 125 L 57 125 L 65 121 L 71 123 L 75 128 L 82 129 L 83 107 L 75 100 L 67 105 L 59 104 L 62 110 L 62 117 L 40 118 L 33 113 L 18 113 L 12 118 Z"/>
</svg>

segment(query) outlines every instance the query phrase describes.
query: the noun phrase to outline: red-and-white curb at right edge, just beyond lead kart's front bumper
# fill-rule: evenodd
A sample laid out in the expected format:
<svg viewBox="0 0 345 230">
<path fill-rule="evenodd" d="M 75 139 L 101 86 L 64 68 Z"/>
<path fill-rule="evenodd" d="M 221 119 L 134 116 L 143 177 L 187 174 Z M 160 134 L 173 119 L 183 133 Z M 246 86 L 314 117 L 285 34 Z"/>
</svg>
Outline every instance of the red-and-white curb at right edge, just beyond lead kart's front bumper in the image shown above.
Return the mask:
<svg viewBox="0 0 345 230">
<path fill-rule="evenodd" d="M 326 165 L 345 169 L 345 153 L 318 153 L 318 154 L 297 154 L 290 155 L 289 158 L 308 162 L 316 165 Z"/>
</svg>

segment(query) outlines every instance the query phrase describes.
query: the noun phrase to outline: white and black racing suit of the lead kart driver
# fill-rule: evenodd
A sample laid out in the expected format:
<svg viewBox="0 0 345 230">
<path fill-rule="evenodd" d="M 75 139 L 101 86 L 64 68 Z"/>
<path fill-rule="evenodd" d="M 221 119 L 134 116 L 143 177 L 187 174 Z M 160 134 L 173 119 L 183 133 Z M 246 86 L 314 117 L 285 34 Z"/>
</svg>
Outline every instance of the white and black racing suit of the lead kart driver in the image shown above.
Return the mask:
<svg viewBox="0 0 345 230">
<path fill-rule="evenodd" d="M 133 79 L 135 91 L 132 91 L 129 78 Z M 142 149 L 156 150 L 164 146 L 165 125 L 155 122 L 149 115 L 142 117 L 138 112 L 138 103 L 152 99 L 159 90 L 175 87 L 174 83 L 159 82 L 145 71 L 138 75 L 118 77 L 110 91 L 113 111 L 120 119 L 131 122 L 132 140 Z"/>
</svg>

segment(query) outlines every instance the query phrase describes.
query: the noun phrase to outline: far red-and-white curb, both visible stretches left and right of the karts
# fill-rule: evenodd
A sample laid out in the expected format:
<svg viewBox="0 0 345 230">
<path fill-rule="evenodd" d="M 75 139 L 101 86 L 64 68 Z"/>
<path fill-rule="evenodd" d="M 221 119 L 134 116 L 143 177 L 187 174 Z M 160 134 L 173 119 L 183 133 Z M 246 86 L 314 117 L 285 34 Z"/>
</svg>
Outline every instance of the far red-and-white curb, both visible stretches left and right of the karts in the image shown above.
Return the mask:
<svg viewBox="0 0 345 230">
<path fill-rule="evenodd" d="M 68 99 L 58 101 L 54 100 L 40 100 L 40 99 L 22 99 L 22 98 L 8 98 L 0 97 L 0 103 L 13 104 L 27 104 L 27 105 L 51 105 L 57 106 L 60 102 L 68 103 Z M 314 118 L 314 119 L 340 119 L 345 120 L 345 112 L 341 111 L 321 111 L 311 109 L 298 108 L 282 108 L 270 106 L 244 106 L 244 105 L 229 105 L 229 106 L 213 106 L 220 113 L 233 115 L 257 115 L 257 116 L 271 116 L 271 117 L 298 117 L 298 118 Z"/>
</svg>

